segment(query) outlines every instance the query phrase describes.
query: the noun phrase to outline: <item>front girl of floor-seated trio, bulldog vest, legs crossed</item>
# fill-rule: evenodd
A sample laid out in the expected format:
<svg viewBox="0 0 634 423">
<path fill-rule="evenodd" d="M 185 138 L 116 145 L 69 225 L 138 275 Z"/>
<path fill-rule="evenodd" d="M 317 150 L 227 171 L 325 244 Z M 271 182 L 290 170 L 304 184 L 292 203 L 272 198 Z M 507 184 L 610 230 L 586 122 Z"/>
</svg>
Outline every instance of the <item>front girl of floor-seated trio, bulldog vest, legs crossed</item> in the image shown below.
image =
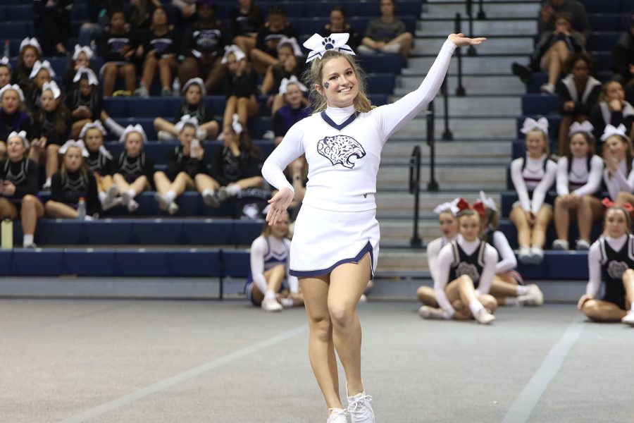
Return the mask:
<svg viewBox="0 0 634 423">
<path fill-rule="evenodd" d="M 478 238 L 483 207 L 476 207 L 478 211 L 468 208 L 462 199 L 458 207 L 461 236 L 442 247 L 438 255 L 434 293 L 440 308 L 423 305 L 418 315 L 423 319 L 475 319 L 490 324 L 497 307 L 495 298 L 489 295 L 497 252 Z"/>
</svg>

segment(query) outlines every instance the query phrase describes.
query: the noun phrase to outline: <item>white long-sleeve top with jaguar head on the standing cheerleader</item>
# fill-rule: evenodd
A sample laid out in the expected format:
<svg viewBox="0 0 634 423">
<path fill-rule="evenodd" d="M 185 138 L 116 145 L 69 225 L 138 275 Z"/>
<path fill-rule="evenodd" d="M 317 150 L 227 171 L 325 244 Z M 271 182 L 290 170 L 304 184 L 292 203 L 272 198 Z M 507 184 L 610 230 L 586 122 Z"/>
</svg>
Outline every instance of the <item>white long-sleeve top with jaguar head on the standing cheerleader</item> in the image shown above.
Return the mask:
<svg viewBox="0 0 634 423">
<path fill-rule="evenodd" d="M 435 97 L 454 49 L 456 44 L 445 42 L 421 86 L 397 102 L 367 113 L 357 112 L 354 106 L 328 107 L 294 124 L 264 162 L 264 178 L 278 190 L 293 191 L 284 169 L 305 153 L 309 182 L 304 203 L 340 212 L 375 209 L 383 145 Z"/>
</svg>

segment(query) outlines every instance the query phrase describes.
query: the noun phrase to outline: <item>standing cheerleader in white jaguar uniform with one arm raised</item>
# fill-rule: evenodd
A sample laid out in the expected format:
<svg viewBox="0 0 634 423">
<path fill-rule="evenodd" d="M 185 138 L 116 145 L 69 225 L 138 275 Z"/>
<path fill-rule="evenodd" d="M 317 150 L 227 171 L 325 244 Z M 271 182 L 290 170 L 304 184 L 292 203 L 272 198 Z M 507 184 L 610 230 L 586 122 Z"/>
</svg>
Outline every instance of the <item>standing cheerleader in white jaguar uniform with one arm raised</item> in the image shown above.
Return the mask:
<svg viewBox="0 0 634 423">
<path fill-rule="evenodd" d="M 313 35 L 310 83 L 314 114 L 290 128 L 268 157 L 262 174 L 279 190 L 270 200 L 269 224 L 293 200 L 284 176 L 291 161 L 306 154 L 309 182 L 295 222 L 290 274 L 299 278 L 311 329 L 309 356 L 330 410 L 328 422 L 346 422 L 337 382 L 335 349 L 347 379 L 352 422 L 374 422 L 361 381 L 361 325 L 356 304 L 378 259 L 375 219 L 376 174 L 383 144 L 423 111 L 440 89 L 456 46 L 484 39 L 449 35 L 420 87 L 398 102 L 373 109 L 363 77 L 345 43 L 348 34 Z"/>
</svg>

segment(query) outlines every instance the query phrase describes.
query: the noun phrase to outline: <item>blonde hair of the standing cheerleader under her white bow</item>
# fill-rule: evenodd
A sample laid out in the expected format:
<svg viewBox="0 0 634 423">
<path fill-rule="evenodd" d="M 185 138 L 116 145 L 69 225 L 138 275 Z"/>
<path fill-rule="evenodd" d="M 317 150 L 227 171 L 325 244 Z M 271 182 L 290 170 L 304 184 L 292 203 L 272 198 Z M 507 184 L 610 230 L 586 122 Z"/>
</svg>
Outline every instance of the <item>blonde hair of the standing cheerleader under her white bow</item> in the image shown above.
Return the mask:
<svg viewBox="0 0 634 423">
<path fill-rule="evenodd" d="M 315 88 L 315 85 L 321 87 L 323 66 L 327 61 L 331 59 L 338 59 L 340 57 L 344 57 L 348 61 L 352 67 L 354 75 L 356 76 L 356 80 L 359 82 L 359 94 L 356 94 L 353 101 L 354 109 L 363 113 L 371 111 L 374 106 L 372 106 L 372 103 L 366 94 L 366 75 L 363 73 L 361 66 L 359 66 L 354 60 L 354 56 L 341 53 L 340 51 L 328 50 L 323 54 L 321 59 L 313 60 L 310 68 L 306 69 L 304 72 L 304 80 L 306 81 L 306 85 L 310 87 L 309 98 L 313 113 L 324 111 L 328 106 L 325 95 L 318 92 Z"/>
</svg>

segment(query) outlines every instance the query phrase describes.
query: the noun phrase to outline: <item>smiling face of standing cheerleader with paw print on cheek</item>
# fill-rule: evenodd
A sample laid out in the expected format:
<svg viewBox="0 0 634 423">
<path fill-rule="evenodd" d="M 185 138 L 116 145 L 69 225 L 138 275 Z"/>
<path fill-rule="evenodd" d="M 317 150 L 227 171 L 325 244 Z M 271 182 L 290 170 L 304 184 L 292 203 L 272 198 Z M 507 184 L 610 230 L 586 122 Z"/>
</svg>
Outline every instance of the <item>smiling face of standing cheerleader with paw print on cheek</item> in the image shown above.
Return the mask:
<svg viewBox="0 0 634 423">
<path fill-rule="evenodd" d="M 321 86 L 317 92 L 325 96 L 328 106 L 352 106 L 356 94 L 359 94 L 359 81 L 356 80 L 354 68 L 344 57 L 326 61 L 321 72 Z"/>
</svg>

